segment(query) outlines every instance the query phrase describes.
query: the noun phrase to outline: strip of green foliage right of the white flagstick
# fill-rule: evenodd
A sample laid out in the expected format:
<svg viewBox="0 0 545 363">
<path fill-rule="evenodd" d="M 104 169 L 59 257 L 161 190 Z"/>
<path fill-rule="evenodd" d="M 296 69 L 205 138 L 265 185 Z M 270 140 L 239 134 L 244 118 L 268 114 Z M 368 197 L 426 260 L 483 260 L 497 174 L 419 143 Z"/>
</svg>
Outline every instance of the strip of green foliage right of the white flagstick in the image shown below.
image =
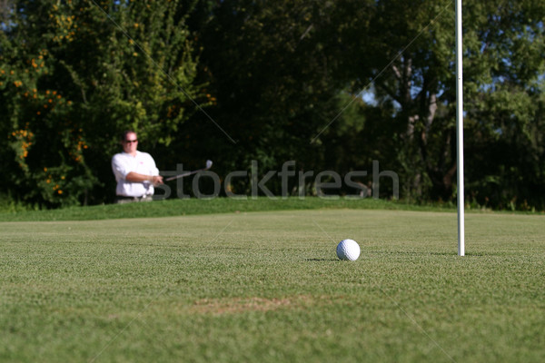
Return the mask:
<svg viewBox="0 0 545 363">
<path fill-rule="evenodd" d="M 545 5 L 466 7 L 470 196 L 496 208 L 545 208 Z M 483 30 L 485 29 L 485 30 Z"/>
</svg>

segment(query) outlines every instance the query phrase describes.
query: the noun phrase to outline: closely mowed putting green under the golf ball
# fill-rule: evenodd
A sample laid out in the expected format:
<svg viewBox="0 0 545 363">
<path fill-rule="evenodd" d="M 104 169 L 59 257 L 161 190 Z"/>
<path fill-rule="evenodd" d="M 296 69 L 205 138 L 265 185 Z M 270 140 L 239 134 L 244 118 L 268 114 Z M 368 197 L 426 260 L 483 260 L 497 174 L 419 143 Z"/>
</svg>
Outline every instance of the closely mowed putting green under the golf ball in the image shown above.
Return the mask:
<svg viewBox="0 0 545 363">
<path fill-rule="evenodd" d="M 2 222 L 0 361 L 542 362 L 544 227 L 466 214 L 461 258 L 445 211 Z"/>
</svg>

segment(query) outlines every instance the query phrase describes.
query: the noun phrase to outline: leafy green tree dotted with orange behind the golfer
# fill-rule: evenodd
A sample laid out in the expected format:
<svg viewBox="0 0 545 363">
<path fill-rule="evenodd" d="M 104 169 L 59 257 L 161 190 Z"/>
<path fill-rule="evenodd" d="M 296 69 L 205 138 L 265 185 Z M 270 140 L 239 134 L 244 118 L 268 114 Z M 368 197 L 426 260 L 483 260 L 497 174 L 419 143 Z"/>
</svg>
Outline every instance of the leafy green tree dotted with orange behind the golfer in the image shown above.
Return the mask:
<svg viewBox="0 0 545 363">
<path fill-rule="evenodd" d="M 120 132 L 168 145 L 199 97 L 180 2 L 96 4 L 16 1 L 5 25 L 2 185 L 22 201 L 104 201 Z"/>
</svg>

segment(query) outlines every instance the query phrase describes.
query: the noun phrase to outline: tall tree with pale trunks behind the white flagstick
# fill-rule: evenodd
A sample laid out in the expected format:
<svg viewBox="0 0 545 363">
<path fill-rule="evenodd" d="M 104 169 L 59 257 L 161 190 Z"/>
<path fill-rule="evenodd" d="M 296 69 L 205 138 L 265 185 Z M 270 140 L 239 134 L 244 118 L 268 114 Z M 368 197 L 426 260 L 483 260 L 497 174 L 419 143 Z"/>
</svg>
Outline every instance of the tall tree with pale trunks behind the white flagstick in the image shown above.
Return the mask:
<svg viewBox="0 0 545 363">
<path fill-rule="evenodd" d="M 544 8 L 542 2 L 533 0 L 464 3 L 467 176 L 477 179 L 470 183 L 471 188 L 491 176 L 480 174 L 490 160 L 472 162 L 472 149 L 525 129 L 526 141 L 518 138 L 510 143 L 540 143 L 530 129 L 543 117 L 539 104 Z M 354 71 L 352 78 L 358 81 L 353 90 L 372 82 L 378 107 L 395 105 L 391 139 L 397 154 L 394 167 L 405 181 L 404 196 L 451 200 L 456 175 L 453 6 L 451 2 L 377 1 L 371 19 L 365 42 L 353 46 L 348 56 L 354 60 L 349 67 Z M 534 106 L 527 107 L 530 104 Z M 509 124 L 505 131 L 499 131 L 500 120 Z M 488 143 L 486 147 L 492 146 Z M 534 148 L 538 152 L 534 160 L 540 148 Z M 520 156 L 510 160 L 511 166 Z M 496 178 L 502 178 L 497 172 Z M 518 193 L 509 184 L 509 194 Z"/>
</svg>

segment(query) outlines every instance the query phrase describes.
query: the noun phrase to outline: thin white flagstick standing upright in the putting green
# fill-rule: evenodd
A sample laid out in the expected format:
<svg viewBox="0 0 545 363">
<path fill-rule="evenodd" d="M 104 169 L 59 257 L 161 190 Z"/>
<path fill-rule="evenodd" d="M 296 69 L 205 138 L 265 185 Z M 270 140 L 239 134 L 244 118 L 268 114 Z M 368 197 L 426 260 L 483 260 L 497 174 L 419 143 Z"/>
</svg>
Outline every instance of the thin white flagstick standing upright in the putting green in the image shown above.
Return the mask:
<svg viewBox="0 0 545 363">
<path fill-rule="evenodd" d="M 465 255 L 464 192 L 463 192 L 463 88 L 462 88 L 461 0 L 456 0 L 456 151 L 458 174 L 458 256 Z"/>
</svg>

